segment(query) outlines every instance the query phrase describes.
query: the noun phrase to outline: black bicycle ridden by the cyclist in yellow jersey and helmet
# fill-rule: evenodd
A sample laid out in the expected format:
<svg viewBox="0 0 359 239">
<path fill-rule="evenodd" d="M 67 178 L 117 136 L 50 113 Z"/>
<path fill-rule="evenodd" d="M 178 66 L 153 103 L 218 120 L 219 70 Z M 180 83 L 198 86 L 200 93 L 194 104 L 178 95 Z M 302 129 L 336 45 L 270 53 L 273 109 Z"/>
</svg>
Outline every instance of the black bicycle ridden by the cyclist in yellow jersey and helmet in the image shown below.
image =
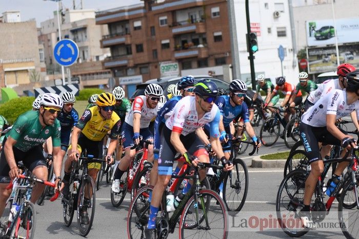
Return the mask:
<svg viewBox="0 0 359 239">
<path fill-rule="evenodd" d="M 86 155 L 86 150 L 82 155 Z M 69 227 L 72 223 L 74 211 L 77 210 L 77 227 L 82 236 L 86 236 L 92 227 L 93 217 L 95 215 L 95 190 L 94 183 L 90 175 L 88 175 L 89 163 L 102 163 L 105 160 L 94 158 L 93 155 L 81 156 L 77 162 L 72 162 L 70 173 L 70 192 L 69 198 L 62 198 L 64 223 Z M 79 171 L 82 170 L 82 175 L 79 176 Z M 87 198 L 85 199 L 85 196 Z M 90 211 L 88 210 L 90 209 Z M 83 217 L 83 211 L 87 211 L 89 215 L 89 222 Z"/>
</svg>

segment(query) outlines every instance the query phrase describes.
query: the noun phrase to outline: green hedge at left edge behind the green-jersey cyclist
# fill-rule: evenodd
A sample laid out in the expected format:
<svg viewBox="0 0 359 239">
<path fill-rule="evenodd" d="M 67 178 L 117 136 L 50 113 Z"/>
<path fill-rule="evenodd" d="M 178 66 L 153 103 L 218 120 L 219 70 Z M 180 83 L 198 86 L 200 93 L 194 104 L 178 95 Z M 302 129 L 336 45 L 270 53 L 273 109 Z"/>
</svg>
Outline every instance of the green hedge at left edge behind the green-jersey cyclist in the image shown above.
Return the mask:
<svg viewBox="0 0 359 239">
<path fill-rule="evenodd" d="M 12 125 L 19 115 L 32 110 L 32 102 L 34 100 L 35 98 L 32 96 L 10 99 L 10 101 L 0 106 L 0 115 L 3 115 L 9 124 Z"/>
</svg>

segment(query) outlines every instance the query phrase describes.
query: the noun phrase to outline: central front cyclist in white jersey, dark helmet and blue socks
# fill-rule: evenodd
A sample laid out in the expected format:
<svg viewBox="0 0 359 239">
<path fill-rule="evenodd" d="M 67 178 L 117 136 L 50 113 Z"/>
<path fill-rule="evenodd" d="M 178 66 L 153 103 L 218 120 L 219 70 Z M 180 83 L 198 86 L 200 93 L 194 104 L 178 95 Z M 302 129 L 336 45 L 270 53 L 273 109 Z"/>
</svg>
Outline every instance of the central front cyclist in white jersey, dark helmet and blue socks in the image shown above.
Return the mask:
<svg viewBox="0 0 359 239">
<path fill-rule="evenodd" d="M 198 128 L 202 128 L 207 123 L 210 124 L 210 141 L 213 151 L 221 158 L 226 171 L 233 168 L 233 165 L 226 160 L 218 139 L 221 113 L 214 104 L 218 88 L 210 79 L 201 79 L 194 87 L 195 96 L 186 96 L 178 101 L 172 114 L 166 120 L 166 126 L 161 131 L 158 177 L 152 193 L 150 216 L 145 230 L 146 238 L 156 238 L 156 215 L 163 192 L 171 179 L 173 158 L 176 152 L 182 154 L 186 161 L 194 166 L 198 161 L 209 162 L 208 152 L 195 133 Z M 206 170 L 200 170 L 200 176 L 203 180 Z M 190 184 L 187 185 L 190 187 Z M 186 187 L 187 190 L 189 190 L 188 187 Z M 183 196 L 182 193 L 179 194 Z"/>
</svg>

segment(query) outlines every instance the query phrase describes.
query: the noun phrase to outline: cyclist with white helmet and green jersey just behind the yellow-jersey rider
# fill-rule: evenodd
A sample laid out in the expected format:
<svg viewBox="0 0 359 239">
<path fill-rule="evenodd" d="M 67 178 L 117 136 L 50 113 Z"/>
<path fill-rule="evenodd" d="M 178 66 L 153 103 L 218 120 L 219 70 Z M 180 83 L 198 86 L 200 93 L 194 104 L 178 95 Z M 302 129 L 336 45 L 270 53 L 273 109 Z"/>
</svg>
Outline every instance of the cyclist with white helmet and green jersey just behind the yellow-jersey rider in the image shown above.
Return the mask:
<svg viewBox="0 0 359 239">
<path fill-rule="evenodd" d="M 121 120 L 121 128 L 119 128 L 119 132 L 122 131 L 122 126 L 125 123 L 125 117 L 128 112 L 130 112 L 131 103 L 130 101 L 125 98 L 125 91 L 121 86 L 117 86 L 113 89 L 112 94 L 116 98 L 116 105 L 113 111 L 116 112 L 116 114 L 119 116 L 119 119 Z M 106 142 L 104 142 L 106 144 Z M 122 140 L 121 138 L 118 139 L 118 144 L 116 146 L 116 162 L 115 165 L 117 166 L 119 163 L 119 160 L 121 160 L 122 156 Z"/>
</svg>

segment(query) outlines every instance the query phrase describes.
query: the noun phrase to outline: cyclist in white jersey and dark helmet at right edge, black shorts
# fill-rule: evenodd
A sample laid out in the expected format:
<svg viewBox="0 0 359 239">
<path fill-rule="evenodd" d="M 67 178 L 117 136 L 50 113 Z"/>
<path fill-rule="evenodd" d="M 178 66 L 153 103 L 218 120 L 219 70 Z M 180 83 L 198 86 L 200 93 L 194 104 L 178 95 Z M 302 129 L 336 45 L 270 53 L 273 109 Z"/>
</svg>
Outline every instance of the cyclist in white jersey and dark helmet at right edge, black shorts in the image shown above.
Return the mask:
<svg viewBox="0 0 359 239">
<path fill-rule="evenodd" d="M 348 73 L 345 77 L 345 91 L 334 89 L 321 97 L 303 114 L 302 123 L 299 127 L 301 139 L 311 166 L 305 185 L 304 207 L 300 211 L 301 220 L 305 227 L 308 227 L 309 223 L 311 223 L 310 201 L 318 177 L 324 170 L 323 155 L 319 151 L 318 142 L 346 148 L 346 150 L 342 151 L 342 157 L 347 150 L 356 146 L 352 136 L 335 126 L 336 120 L 349 115 L 352 111 L 356 111 L 356 115 L 359 116 L 359 70 Z M 338 164 L 330 182 L 333 181 L 337 184 L 339 176 L 347 165 L 348 162 Z"/>
</svg>

